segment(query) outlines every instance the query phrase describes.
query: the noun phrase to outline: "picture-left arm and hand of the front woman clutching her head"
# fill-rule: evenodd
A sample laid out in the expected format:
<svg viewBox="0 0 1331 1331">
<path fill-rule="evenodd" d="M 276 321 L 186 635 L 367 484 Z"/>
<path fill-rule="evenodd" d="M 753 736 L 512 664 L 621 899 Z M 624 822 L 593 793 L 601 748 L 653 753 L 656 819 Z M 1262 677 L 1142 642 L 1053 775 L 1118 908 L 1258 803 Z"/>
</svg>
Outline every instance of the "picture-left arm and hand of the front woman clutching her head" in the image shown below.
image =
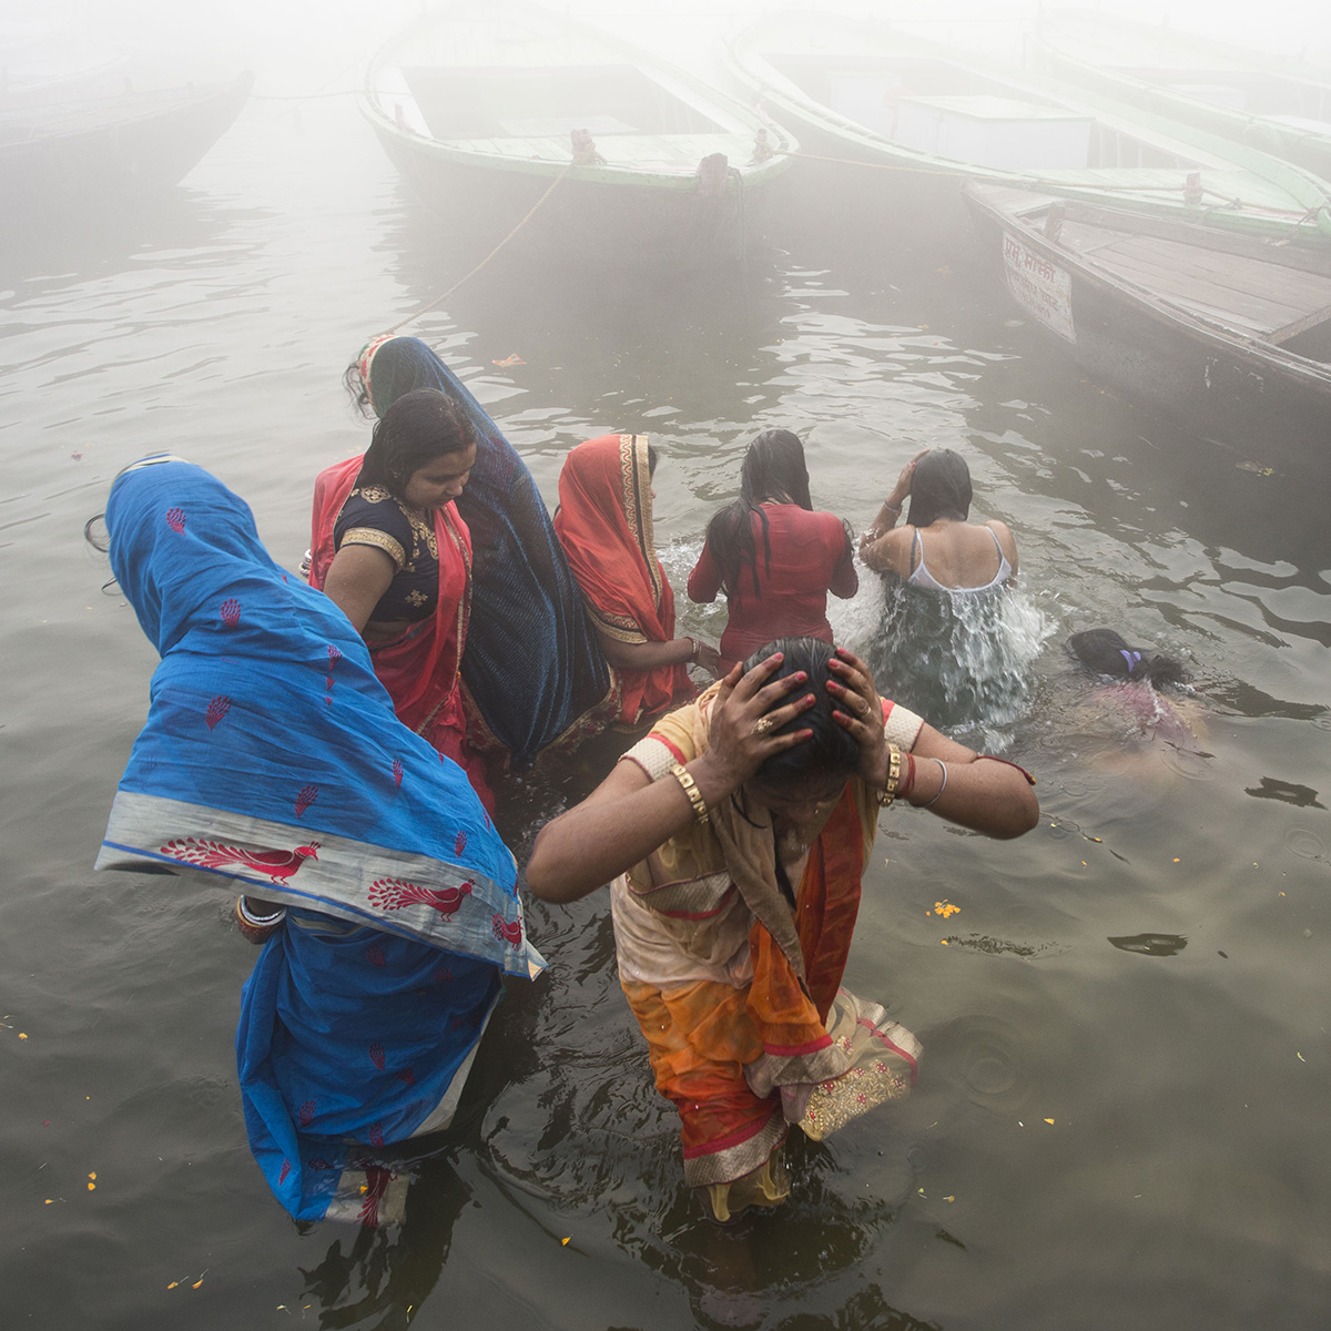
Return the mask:
<svg viewBox="0 0 1331 1331">
<path fill-rule="evenodd" d="M 712 713 L 711 745 L 685 768 L 708 808 L 737 791 L 764 759 L 809 735 L 753 733 L 753 723 L 768 708 L 808 681 L 801 672 L 764 684 L 779 662 L 780 655 L 769 656 L 747 675 L 736 666 L 721 685 Z M 812 705 L 813 695 L 805 693 L 775 708 L 773 728 Z M 618 763 L 582 804 L 540 829 L 527 864 L 527 884 L 546 901 L 576 901 L 626 873 L 693 817 L 693 807 L 673 777 L 650 783 L 636 763 Z"/>
</svg>

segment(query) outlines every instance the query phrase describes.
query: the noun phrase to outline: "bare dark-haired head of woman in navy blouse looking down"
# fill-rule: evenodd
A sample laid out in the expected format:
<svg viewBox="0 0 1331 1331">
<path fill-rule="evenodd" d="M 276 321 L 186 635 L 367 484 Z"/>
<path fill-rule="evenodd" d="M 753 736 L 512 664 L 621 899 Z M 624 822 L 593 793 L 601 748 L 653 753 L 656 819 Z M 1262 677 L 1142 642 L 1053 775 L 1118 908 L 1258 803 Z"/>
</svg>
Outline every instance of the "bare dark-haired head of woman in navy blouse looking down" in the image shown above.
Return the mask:
<svg viewBox="0 0 1331 1331">
<path fill-rule="evenodd" d="M 476 431 L 438 389 L 415 389 L 383 413 L 365 451 L 358 484 L 379 484 L 410 508 L 441 508 L 467 483 Z"/>
</svg>

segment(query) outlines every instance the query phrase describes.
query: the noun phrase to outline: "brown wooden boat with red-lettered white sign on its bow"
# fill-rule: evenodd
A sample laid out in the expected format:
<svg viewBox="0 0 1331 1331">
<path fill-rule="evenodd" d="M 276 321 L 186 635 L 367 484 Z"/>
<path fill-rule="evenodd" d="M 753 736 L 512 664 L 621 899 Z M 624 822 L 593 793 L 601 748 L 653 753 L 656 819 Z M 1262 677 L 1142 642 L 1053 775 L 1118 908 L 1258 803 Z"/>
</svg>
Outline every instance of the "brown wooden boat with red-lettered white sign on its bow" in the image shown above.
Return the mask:
<svg viewBox="0 0 1331 1331">
<path fill-rule="evenodd" d="M 1095 381 L 1284 470 L 1331 473 L 1331 250 L 968 184 L 988 261 Z"/>
</svg>

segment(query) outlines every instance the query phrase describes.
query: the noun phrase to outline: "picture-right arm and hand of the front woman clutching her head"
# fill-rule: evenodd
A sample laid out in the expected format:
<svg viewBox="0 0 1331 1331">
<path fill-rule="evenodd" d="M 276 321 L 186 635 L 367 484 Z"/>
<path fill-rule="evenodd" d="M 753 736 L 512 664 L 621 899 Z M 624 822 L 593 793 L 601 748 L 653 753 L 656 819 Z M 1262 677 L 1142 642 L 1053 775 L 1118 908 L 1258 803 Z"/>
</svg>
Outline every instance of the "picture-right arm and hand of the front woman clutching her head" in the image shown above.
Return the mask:
<svg viewBox="0 0 1331 1331">
<path fill-rule="evenodd" d="M 888 744 L 873 676 L 864 662 L 844 647 L 837 648 L 829 669 L 837 681 L 828 681 L 828 692 L 841 708 L 832 715 L 860 744 L 860 775 L 870 785 L 882 788 L 888 780 Z M 1021 768 L 976 753 L 929 724 L 920 731 L 912 756 L 916 776 L 905 796 L 909 804 L 926 805 L 949 823 L 998 840 L 1021 836 L 1038 821 L 1040 801 Z M 901 773 L 901 784 L 908 780 L 909 764 Z"/>
</svg>

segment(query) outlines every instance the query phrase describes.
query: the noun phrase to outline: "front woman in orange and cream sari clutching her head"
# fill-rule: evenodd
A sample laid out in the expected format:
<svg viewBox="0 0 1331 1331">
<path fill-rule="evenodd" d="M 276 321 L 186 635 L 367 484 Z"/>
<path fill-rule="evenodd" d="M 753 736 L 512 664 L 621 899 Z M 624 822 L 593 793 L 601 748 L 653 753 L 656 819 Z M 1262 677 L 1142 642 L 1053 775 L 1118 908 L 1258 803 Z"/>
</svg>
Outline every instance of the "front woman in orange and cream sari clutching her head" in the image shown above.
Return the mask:
<svg viewBox="0 0 1331 1331">
<path fill-rule="evenodd" d="M 614 880 L 620 982 L 713 1219 L 785 1199 L 792 1125 L 821 1139 L 914 1081 L 918 1041 L 841 988 L 880 811 L 1013 837 L 1032 784 L 882 701 L 844 648 L 781 639 L 540 831 L 536 896 Z"/>
</svg>

